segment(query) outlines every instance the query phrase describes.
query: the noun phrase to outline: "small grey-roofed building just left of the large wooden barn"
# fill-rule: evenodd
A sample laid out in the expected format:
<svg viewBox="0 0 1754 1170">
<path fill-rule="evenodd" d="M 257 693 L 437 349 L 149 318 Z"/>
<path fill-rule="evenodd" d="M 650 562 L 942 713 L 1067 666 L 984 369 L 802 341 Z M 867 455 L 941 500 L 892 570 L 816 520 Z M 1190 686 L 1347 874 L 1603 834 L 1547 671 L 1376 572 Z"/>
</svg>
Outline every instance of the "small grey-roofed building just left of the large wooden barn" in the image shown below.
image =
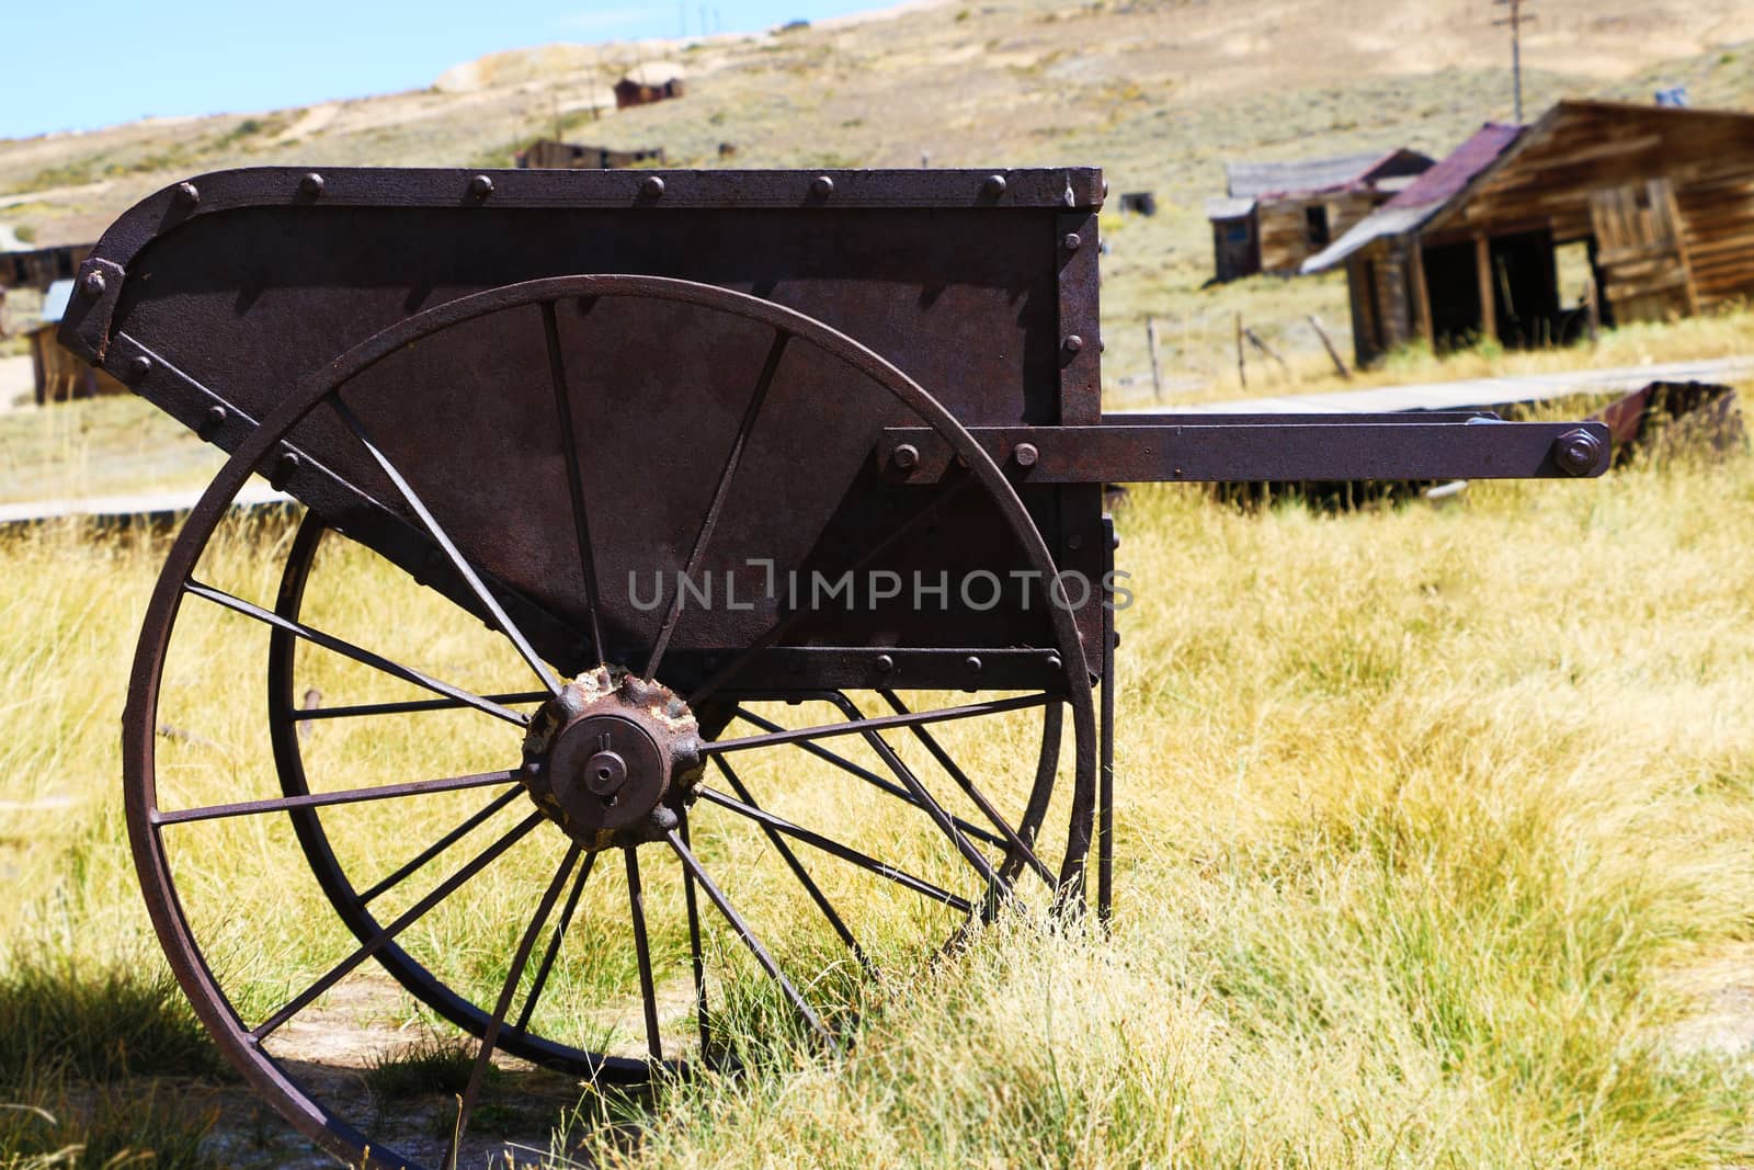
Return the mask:
<svg viewBox="0 0 1754 1170">
<path fill-rule="evenodd" d="M 1298 267 L 1386 203 L 1431 160 L 1398 149 L 1289 163 L 1226 163 L 1226 196 L 1207 203 L 1219 281 Z"/>
</svg>

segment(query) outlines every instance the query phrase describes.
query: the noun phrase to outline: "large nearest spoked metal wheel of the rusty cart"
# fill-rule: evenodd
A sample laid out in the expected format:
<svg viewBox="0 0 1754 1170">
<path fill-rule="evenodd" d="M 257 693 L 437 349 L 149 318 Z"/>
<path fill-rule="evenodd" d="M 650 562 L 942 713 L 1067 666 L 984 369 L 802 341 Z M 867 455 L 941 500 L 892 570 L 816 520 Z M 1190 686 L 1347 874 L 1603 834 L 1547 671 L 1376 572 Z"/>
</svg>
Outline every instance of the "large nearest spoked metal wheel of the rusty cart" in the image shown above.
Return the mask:
<svg viewBox="0 0 1754 1170">
<path fill-rule="evenodd" d="M 688 395 L 691 377 L 721 384 L 740 365 L 740 395 Z M 845 484 L 786 484 L 796 430 L 761 426 L 824 410 L 798 400 L 824 381 L 882 403 L 837 414 L 838 430 L 817 419 L 849 477 L 870 479 L 872 417 L 931 428 L 965 468 L 893 502 L 877 493 L 886 526 L 861 514 L 859 530 L 889 535 L 838 560 L 821 533 Z M 670 412 L 682 458 L 637 449 L 617 412 L 638 412 L 644 432 Z M 507 461 L 449 467 L 447 426 L 503 433 Z M 254 470 L 310 474 L 312 451 L 349 446 L 374 468 L 370 498 L 309 512 L 284 554 L 223 524 Z M 775 1012 L 837 1049 L 851 1010 L 837 986 L 858 972 L 930 952 L 1007 898 L 1079 896 L 1096 742 L 1066 609 L 1042 607 L 1033 642 L 1009 647 L 1033 654 L 1038 686 L 965 698 L 930 672 L 909 686 L 905 642 L 824 646 L 819 614 L 774 596 L 684 602 L 684 581 L 710 568 L 735 595 L 768 540 L 770 575 L 824 556 L 849 570 L 903 551 L 954 561 L 961 551 L 931 553 L 933 516 L 952 503 L 988 509 L 1010 563 L 1054 577 L 1012 486 L 917 384 L 814 319 L 709 286 L 495 289 L 309 377 L 172 547 L 125 724 L 142 888 L 221 1049 L 335 1154 L 412 1165 L 281 1047 L 368 960 L 479 1042 L 461 1135 L 496 1051 L 640 1082 L 723 1054 L 724 1021 Z M 638 600 L 642 565 L 682 570 L 668 598 Z M 626 598 L 609 589 L 623 572 Z M 260 637 L 246 647 L 217 623 Z M 232 710 L 217 649 L 237 651 L 239 679 L 267 663 L 267 751 L 251 717 L 161 749 L 167 703 L 205 695 Z M 865 660 L 870 686 L 812 674 Z M 217 763 L 196 763 L 191 742 L 219 746 Z M 223 884 L 207 879 L 216 858 Z"/>
</svg>

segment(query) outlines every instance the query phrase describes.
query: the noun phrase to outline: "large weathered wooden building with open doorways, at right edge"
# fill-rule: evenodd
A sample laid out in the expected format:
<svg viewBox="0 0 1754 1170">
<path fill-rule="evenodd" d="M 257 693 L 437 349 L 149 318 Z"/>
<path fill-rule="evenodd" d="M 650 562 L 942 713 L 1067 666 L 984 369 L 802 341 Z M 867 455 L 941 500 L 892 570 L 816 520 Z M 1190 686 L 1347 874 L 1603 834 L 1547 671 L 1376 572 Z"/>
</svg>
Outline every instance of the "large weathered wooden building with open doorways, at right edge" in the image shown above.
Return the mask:
<svg viewBox="0 0 1754 1170">
<path fill-rule="evenodd" d="M 1622 325 L 1750 296 L 1754 114 L 1561 102 L 1487 125 L 1303 270 L 1342 263 L 1359 363 L 1572 340 L 1589 298 Z"/>
</svg>

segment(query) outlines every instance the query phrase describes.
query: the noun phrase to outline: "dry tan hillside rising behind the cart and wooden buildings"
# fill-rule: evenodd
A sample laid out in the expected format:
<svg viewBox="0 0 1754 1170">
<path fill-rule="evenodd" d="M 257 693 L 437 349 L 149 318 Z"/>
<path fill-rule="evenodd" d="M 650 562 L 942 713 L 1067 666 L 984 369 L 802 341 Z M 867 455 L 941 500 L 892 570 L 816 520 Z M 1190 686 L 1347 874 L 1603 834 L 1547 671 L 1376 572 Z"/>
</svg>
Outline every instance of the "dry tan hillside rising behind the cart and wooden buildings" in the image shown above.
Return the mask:
<svg viewBox="0 0 1754 1170">
<path fill-rule="evenodd" d="M 663 146 L 682 167 L 719 165 L 721 142 L 738 167 L 1100 163 L 1114 189 L 1152 189 L 1163 209 L 1105 218 L 1110 382 L 1138 377 L 1151 312 L 1200 384 L 1221 368 L 1237 310 L 1293 351 L 1316 346 L 1308 312 L 1345 323 L 1331 277 L 1200 291 L 1201 205 L 1223 189 L 1223 160 L 1447 151 L 1510 116 L 1494 14 L 1487 0 L 1000 0 L 688 44 L 545 46 L 461 63 L 423 91 L 0 142 L 0 223 L 84 240 L 202 170 L 503 167 L 556 126 Z M 1754 102 L 1754 0 L 1603 0 L 1538 18 L 1524 46 L 1531 111 L 1561 95 L 1649 100 L 1659 84 L 1689 86 L 1698 105 Z M 654 56 L 686 67 L 688 96 L 595 116 L 605 86 Z"/>
</svg>

